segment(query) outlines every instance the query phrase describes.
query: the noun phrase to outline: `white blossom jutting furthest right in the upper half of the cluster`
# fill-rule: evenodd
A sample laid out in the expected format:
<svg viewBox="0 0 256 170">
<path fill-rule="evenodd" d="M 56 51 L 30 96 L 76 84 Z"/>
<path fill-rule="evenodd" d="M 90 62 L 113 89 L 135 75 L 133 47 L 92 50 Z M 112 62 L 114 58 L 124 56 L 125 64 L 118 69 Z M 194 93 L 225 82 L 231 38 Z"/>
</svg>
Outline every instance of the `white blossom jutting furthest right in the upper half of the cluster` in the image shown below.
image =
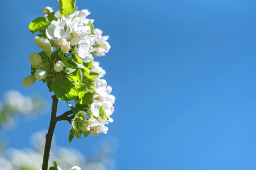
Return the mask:
<svg viewBox="0 0 256 170">
<path fill-rule="evenodd" d="M 107 42 L 109 36 L 102 36 L 102 31 L 98 28 L 95 28 L 93 33 L 97 36 L 97 47 L 95 49 L 95 55 L 101 57 L 110 50 L 111 46 Z"/>
</svg>

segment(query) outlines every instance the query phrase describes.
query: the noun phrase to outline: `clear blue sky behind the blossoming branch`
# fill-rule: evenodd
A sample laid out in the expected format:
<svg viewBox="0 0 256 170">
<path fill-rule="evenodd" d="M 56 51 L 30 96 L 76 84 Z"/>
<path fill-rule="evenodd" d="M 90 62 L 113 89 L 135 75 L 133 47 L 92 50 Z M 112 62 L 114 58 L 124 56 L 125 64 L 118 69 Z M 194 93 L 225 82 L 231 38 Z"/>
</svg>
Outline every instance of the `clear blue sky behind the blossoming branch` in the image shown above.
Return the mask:
<svg viewBox="0 0 256 170">
<path fill-rule="evenodd" d="M 29 88 L 28 56 L 40 52 L 29 22 L 57 1 L 1 1 L 0 94 Z M 110 35 L 110 52 L 97 61 L 116 96 L 109 136 L 120 143 L 118 170 L 256 169 L 256 1 L 254 0 L 77 0 L 94 26 Z M 62 113 L 68 108 L 59 105 Z M 27 134 L 46 129 L 50 113 L 20 120 L 9 146 L 29 146 Z M 59 146 L 85 154 L 106 135 L 74 139 L 58 123 Z M 82 147 L 81 147 L 82 146 Z"/>
</svg>

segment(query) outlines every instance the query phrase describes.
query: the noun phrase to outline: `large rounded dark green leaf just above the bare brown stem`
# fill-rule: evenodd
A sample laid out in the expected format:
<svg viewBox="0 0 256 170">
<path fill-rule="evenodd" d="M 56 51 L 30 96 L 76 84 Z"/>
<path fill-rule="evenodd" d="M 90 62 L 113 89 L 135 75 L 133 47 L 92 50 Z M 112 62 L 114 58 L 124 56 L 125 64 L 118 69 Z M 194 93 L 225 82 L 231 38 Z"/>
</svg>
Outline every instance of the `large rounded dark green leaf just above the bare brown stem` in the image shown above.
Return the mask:
<svg viewBox="0 0 256 170">
<path fill-rule="evenodd" d="M 58 99 L 65 101 L 72 100 L 78 95 L 75 85 L 71 83 L 63 74 L 54 76 L 52 82 L 52 91 L 55 93 Z"/>
</svg>

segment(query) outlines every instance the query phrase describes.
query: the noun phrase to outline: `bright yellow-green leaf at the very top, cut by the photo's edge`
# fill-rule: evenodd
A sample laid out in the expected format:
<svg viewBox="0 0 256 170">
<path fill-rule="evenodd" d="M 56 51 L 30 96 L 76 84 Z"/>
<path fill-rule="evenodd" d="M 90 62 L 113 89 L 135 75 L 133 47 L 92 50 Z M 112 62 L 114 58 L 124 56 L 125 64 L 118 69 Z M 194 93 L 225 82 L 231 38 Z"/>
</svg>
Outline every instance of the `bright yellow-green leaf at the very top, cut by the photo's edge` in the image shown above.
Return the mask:
<svg viewBox="0 0 256 170">
<path fill-rule="evenodd" d="M 76 0 L 59 0 L 60 16 L 70 15 L 76 11 Z"/>
</svg>

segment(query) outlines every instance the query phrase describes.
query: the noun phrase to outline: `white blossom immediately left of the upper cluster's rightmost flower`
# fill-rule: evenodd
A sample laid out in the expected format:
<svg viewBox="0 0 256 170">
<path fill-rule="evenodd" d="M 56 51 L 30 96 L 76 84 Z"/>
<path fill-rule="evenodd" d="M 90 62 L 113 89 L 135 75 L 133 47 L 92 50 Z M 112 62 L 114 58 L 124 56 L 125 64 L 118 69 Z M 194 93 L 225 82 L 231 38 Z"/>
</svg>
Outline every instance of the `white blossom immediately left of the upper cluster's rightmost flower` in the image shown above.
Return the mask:
<svg viewBox="0 0 256 170">
<path fill-rule="evenodd" d="M 90 61 L 93 60 L 92 54 L 90 53 L 93 50 L 91 45 L 94 44 L 95 38 L 96 37 L 94 35 L 90 35 L 90 36 L 86 36 L 85 38 L 82 38 L 79 41 L 79 45 L 75 50 L 76 54 L 84 63 L 89 63 Z"/>
</svg>

